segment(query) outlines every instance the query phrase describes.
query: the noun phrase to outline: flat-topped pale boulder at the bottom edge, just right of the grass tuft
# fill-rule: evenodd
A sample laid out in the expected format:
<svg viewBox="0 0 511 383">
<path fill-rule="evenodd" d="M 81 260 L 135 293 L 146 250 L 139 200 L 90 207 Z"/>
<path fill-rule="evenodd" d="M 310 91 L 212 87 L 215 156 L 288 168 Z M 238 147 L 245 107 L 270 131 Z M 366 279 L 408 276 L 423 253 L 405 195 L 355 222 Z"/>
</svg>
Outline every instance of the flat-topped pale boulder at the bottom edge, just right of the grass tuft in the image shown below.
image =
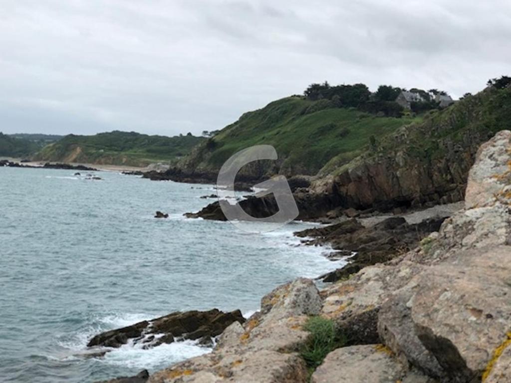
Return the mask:
<svg viewBox="0 0 511 383">
<path fill-rule="evenodd" d="M 312 374 L 312 383 L 396 383 L 406 373 L 384 345 L 338 348 Z"/>
</svg>

